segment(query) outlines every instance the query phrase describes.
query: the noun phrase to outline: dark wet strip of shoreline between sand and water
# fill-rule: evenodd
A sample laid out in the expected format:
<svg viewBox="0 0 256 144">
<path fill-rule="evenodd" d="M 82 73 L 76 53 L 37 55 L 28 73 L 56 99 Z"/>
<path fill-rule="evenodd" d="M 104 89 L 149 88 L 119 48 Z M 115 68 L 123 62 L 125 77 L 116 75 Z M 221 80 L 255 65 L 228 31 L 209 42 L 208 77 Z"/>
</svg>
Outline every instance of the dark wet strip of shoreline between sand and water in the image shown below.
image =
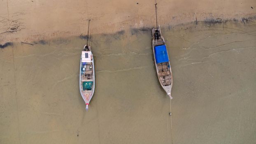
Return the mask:
<svg viewBox="0 0 256 144">
<path fill-rule="evenodd" d="M 171 30 L 171 29 L 179 29 L 179 28 L 182 28 L 183 26 L 196 26 L 198 23 L 202 23 L 202 24 L 205 24 L 205 25 L 209 25 L 209 26 L 212 26 L 212 25 L 215 25 L 215 24 L 224 24 L 224 23 L 227 23 L 227 22 L 235 22 L 237 24 L 244 24 L 246 25 L 247 23 L 250 23 L 250 22 L 254 22 L 256 21 L 256 15 L 254 16 L 249 16 L 249 17 L 242 17 L 240 19 L 205 19 L 205 21 L 189 21 L 189 22 L 185 22 L 185 23 L 179 23 L 179 24 L 176 24 L 176 25 L 161 25 L 161 28 L 162 29 L 168 29 L 168 30 Z M 114 34 L 123 34 L 123 33 L 126 33 L 126 32 L 129 32 L 130 33 L 134 33 L 136 31 L 151 31 L 153 27 L 138 27 L 138 28 L 135 28 L 135 27 L 130 27 L 130 28 L 126 28 L 126 29 L 123 29 L 123 30 L 119 30 L 119 31 L 114 31 L 113 33 L 93 33 L 90 35 L 98 35 L 98 34 L 102 34 L 102 35 L 114 35 Z M 16 33 L 7 33 L 7 35 L 15 35 Z M 44 44 L 45 41 L 47 40 L 50 40 L 50 39 L 56 39 L 56 38 L 67 38 L 67 37 L 80 37 L 81 39 L 86 39 L 87 38 L 87 35 L 84 35 L 83 33 L 81 33 L 80 35 L 75 35 L 75 34 L 70 34 L 70 33 L 58 33 L 56 35 L 51 35 L 51 36 L 45 36 L 45 35 L 37 35 L 37 38 L 33 39 L 33 38 L 29 38 L 29 37 L 33 37 L 33 35 L 30 35 L 28 37 L 25 37 L 23 39 L 15 39 L 13 41 L 2 41 L 2 43 L 0 42 L 0 49 L 4 49 L 5 47 L 8 47 L 8 46 L 11 46 L 13 43 L 15 42 L 21 42 L 23 44 L 30 44 L 30 45 L 33 45 L 33 44 Z"/>
</svg>

